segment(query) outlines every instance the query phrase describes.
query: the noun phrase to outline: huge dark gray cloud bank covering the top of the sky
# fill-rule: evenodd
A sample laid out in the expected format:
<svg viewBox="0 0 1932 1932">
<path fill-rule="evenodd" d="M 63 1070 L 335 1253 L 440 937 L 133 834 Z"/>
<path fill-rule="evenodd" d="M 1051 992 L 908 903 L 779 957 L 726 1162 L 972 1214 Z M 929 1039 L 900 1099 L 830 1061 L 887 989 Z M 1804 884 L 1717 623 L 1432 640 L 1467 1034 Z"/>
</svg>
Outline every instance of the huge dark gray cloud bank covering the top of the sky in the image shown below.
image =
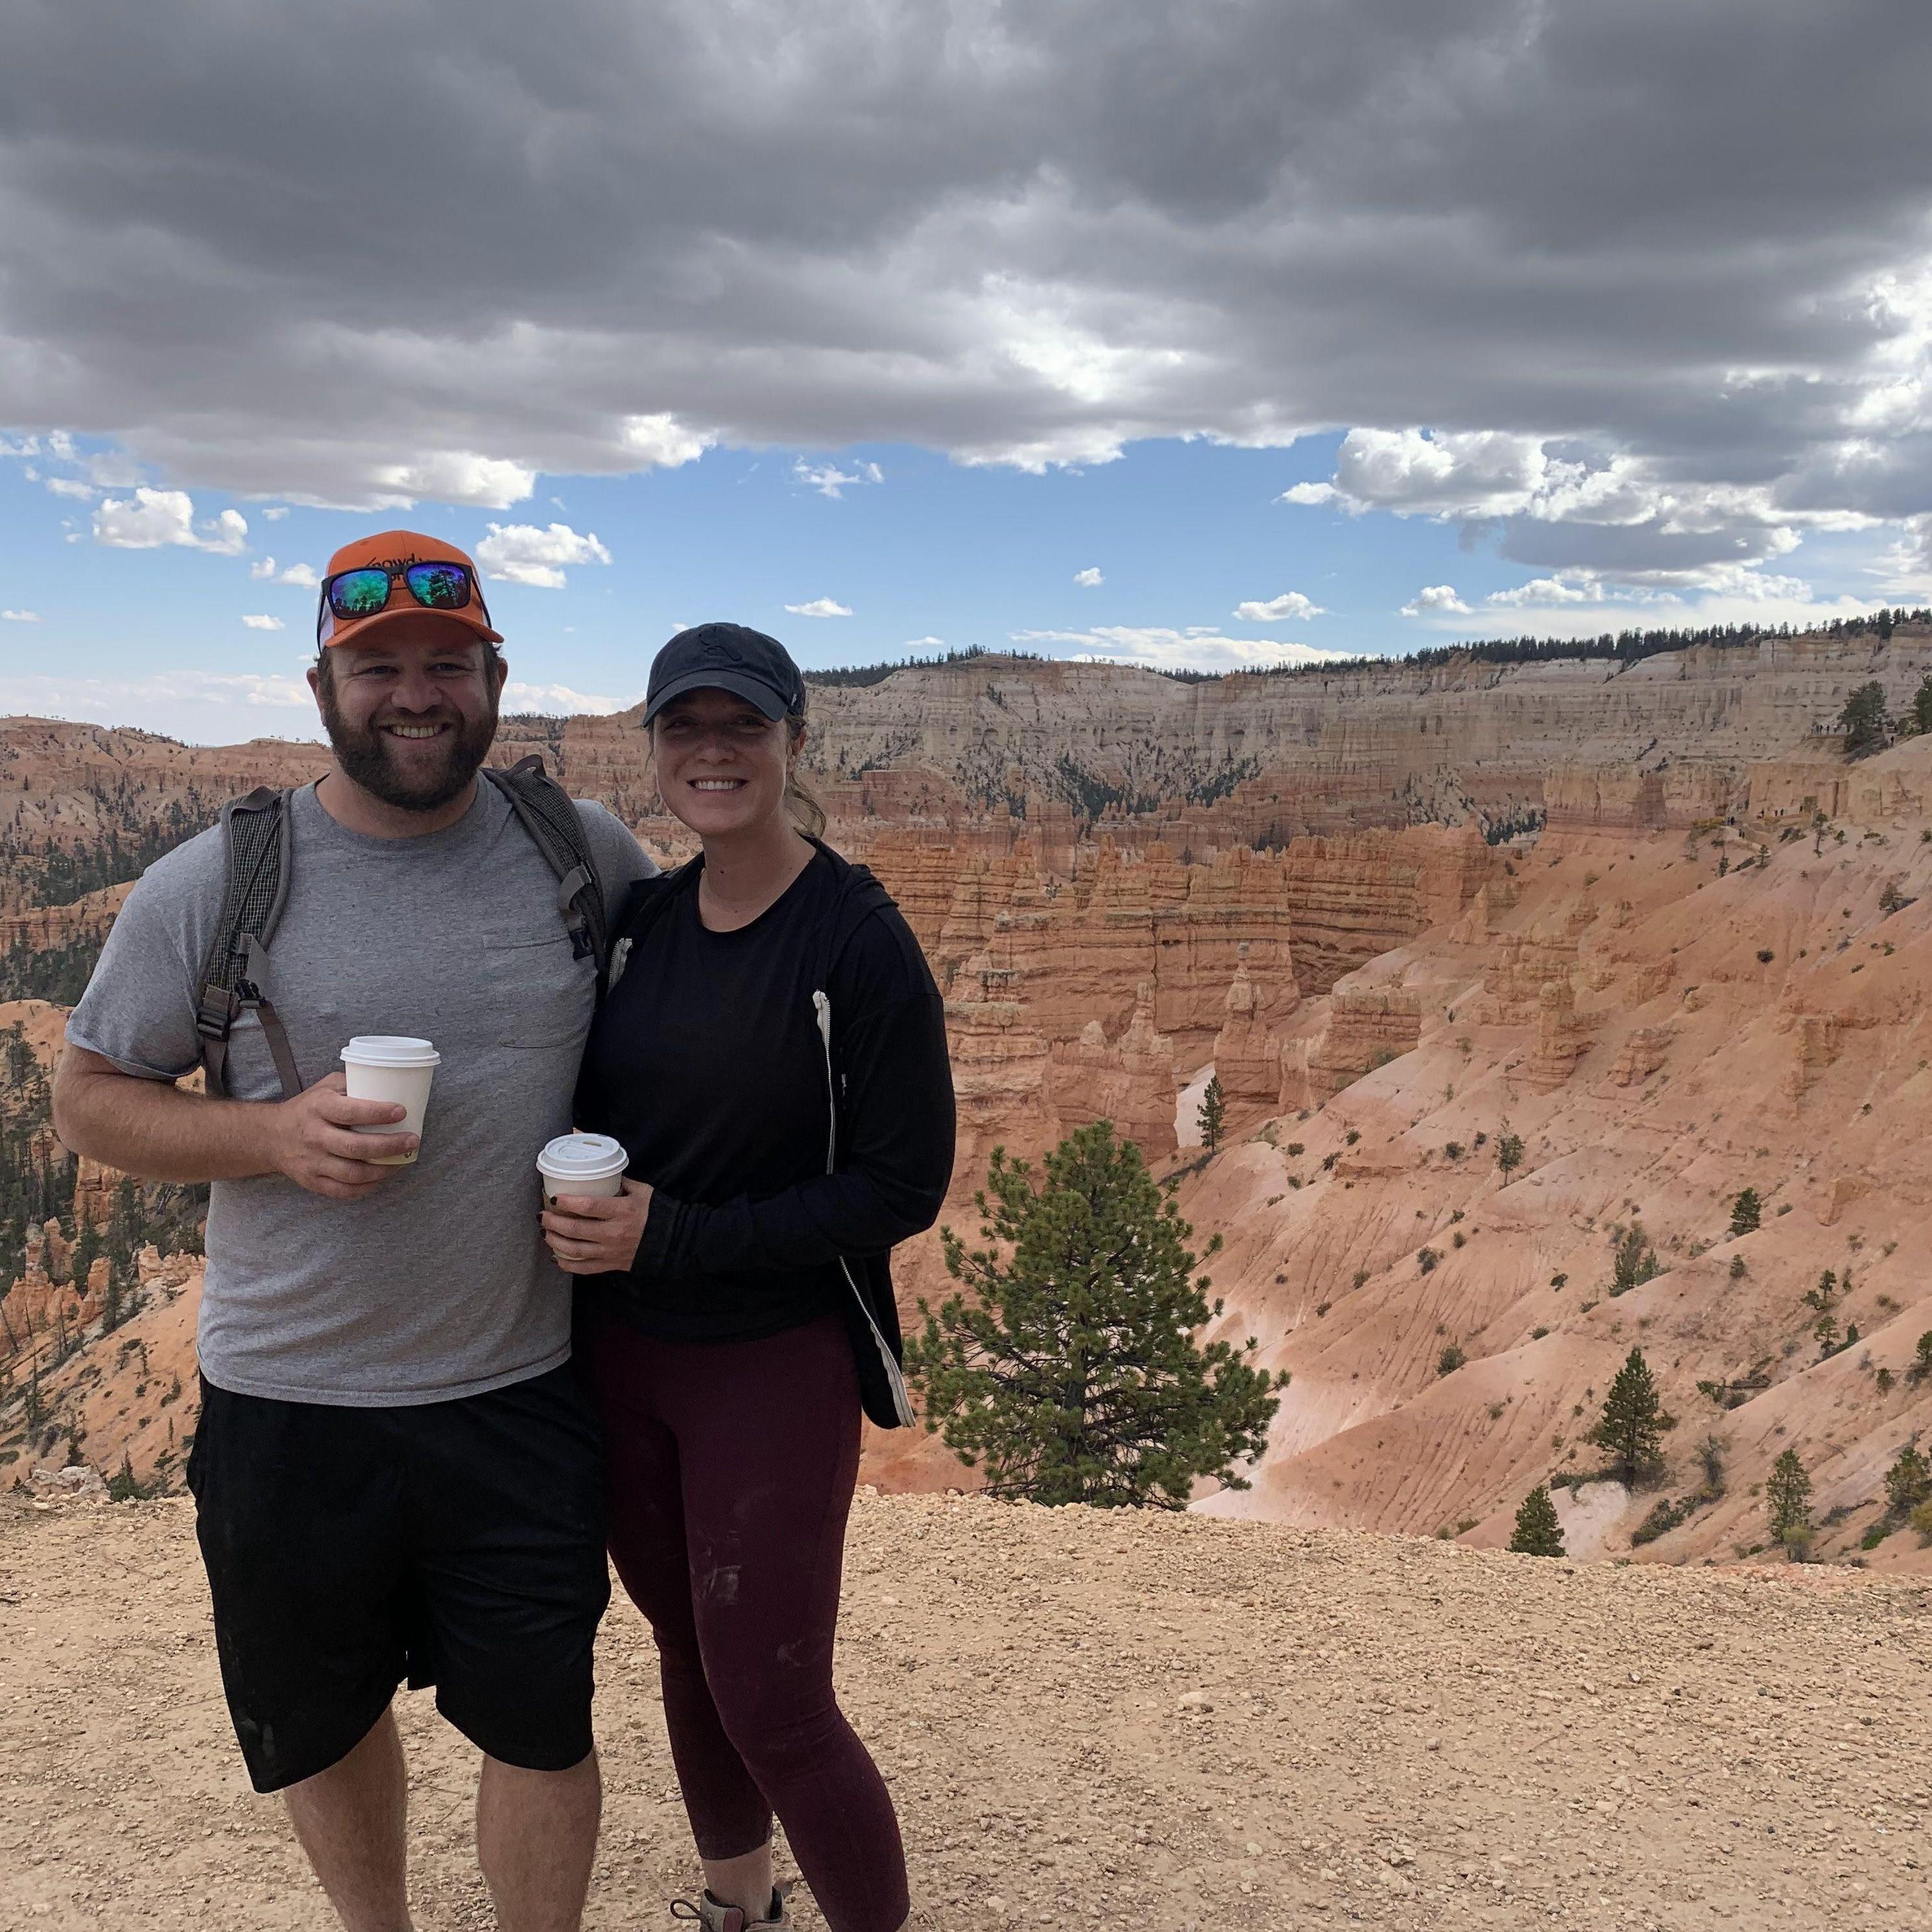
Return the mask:
<svg viewBox="0 0 1932 1932">
<path fill-rule="evenodd" d="M 1037 468 L 1337 427 L 1331 502 L 1658 582 L 1932 508 L 1922 0 L 0 33 L 0 423 L 162 485 L 504 508 L 715 440 Z"/>
</svg>

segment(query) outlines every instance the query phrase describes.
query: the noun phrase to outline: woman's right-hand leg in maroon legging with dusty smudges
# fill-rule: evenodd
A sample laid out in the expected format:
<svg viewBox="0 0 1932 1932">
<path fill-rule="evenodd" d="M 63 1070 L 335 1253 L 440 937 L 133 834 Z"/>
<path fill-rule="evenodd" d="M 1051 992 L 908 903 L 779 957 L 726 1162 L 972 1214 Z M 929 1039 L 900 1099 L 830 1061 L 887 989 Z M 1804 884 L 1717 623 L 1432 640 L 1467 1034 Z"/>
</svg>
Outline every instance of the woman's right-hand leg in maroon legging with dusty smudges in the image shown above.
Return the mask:
<svg viewBox="0 0 1932 1932">
<path fill-rule="evenodd" d="M 844 1321 L 676 1356 L 663 1405 L 678 1439 L 697 1644 L 724 1735 L 784 1820 L 833 1932 L 898 1932 L 898 1818 L 833 1694 L 860 1443 Z"/>
</svg>

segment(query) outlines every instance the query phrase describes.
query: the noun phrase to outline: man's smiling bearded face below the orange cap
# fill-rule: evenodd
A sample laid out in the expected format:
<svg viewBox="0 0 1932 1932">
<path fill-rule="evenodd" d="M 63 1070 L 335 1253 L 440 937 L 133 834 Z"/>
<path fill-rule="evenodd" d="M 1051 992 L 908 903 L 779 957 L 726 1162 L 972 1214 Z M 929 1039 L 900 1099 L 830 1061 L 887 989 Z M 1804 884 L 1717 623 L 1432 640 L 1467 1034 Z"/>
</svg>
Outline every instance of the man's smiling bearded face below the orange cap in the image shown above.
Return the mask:
<svg viewBox="0 0 1932 1932">
<path fill-rule="evenodd" d="M 384 624 L 369 643 L 328 645 L 309 672 L 336 763 L 400 811 L 437 811 L 475 777 L 497 738 L 504 665 L 481 638 L 429 616 Z"/>
</svg>

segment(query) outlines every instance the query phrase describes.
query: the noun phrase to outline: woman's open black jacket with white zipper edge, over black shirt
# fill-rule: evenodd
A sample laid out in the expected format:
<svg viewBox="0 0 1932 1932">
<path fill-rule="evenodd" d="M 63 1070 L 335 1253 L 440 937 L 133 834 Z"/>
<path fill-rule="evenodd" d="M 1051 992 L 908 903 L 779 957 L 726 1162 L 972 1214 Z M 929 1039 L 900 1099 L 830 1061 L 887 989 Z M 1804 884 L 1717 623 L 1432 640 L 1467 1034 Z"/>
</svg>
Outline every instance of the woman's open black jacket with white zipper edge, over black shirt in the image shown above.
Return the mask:
<svg viewBox="0 0 1932 1932">
<path fill-rule="evenodd" d="M 827 993 L 831 1009 L 831 1080 L 827 1113 L 815 1140 L 800 1148 L 794 1186 L 753 1200 L 703 1204 L 663 1190 L 651 1198 L 643 1242 L 632 1277 L 688 1279 L 788 1273 L 844 1262 L 838 1291 L 858 1364 L 860 1399 L 881 1428 L 900 1420 L 891 1376 L 873 1341 L 871 1323 L 900 1358 L 898 1306 L 893 1296 L 891 1250 L 933 1225 L 952 1177 L 952 1076 L 947 1059 L 945 1009 L 931 972 L 883 885 L 829 846 L 817 848 L 833 867 L 835 889 L 810 939 L 806 997 Z M 678 898 L 697 889 L 703 858 L 657 879 L 641 879 L 612 923 L 612 966 L 634 968 L 651 933 Z M 896 927 L 893 943 L 912 964 L 923 989 L 887 1012 L 867 1010 L 852 974 L 852 949 L 867 922 Z M 607 1009 L 609 1016 L 609 1009 Z M 811 1007 L 792 1014 L 746 1014 L 755 1047 L 759 1026 L 808 1026 L 817 1036 Z M 595 1049 L 595 1036 L 593 1036 Z M 578 1122 L 593 1132 L 616 1132 L 622 1107 L 603 1086 L 601 1068 L 585 1061 L 578 1086 Z M 678 1105 L 665 1095 L 665 1105 Z M 622 1138 L 622 1136 L 620 1136 Z M 833 1171 L 823 1173 L 831 1144 Z M 639 1173 L 651 1180 L 651 1175 Z M 655 1182 L 653 1182 L 655 1184 Z M 856 1293 L 854 1293 L 856 1291 Z"/>
</svg>

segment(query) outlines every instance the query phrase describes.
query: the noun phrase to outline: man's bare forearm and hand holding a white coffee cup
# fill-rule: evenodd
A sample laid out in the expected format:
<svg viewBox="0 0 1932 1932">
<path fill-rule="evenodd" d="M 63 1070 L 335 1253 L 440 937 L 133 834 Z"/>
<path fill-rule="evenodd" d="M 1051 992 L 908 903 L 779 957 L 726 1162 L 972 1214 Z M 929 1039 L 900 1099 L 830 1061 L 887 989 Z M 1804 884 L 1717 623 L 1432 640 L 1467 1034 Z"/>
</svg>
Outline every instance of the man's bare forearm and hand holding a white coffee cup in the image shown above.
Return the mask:
<svg viewBox="0 0 1932 1932">
<path fill-rule="evenodd" d="M 54 1074 L 54 1132 L 89 1159 L 145 1180 L 245 1180 L 286 1175 L 330 1200 L 359 1200 L 398 1173 L 375 1165 L 412 1153 L 415 1134 L 354 1134 L 404 1119 L 390 1101 L 350 1099 L 328 1074 L 284 1101 L 211 1099 L 168 1080 L 139 1080 L 71 1041 Z"/>
</svg>

